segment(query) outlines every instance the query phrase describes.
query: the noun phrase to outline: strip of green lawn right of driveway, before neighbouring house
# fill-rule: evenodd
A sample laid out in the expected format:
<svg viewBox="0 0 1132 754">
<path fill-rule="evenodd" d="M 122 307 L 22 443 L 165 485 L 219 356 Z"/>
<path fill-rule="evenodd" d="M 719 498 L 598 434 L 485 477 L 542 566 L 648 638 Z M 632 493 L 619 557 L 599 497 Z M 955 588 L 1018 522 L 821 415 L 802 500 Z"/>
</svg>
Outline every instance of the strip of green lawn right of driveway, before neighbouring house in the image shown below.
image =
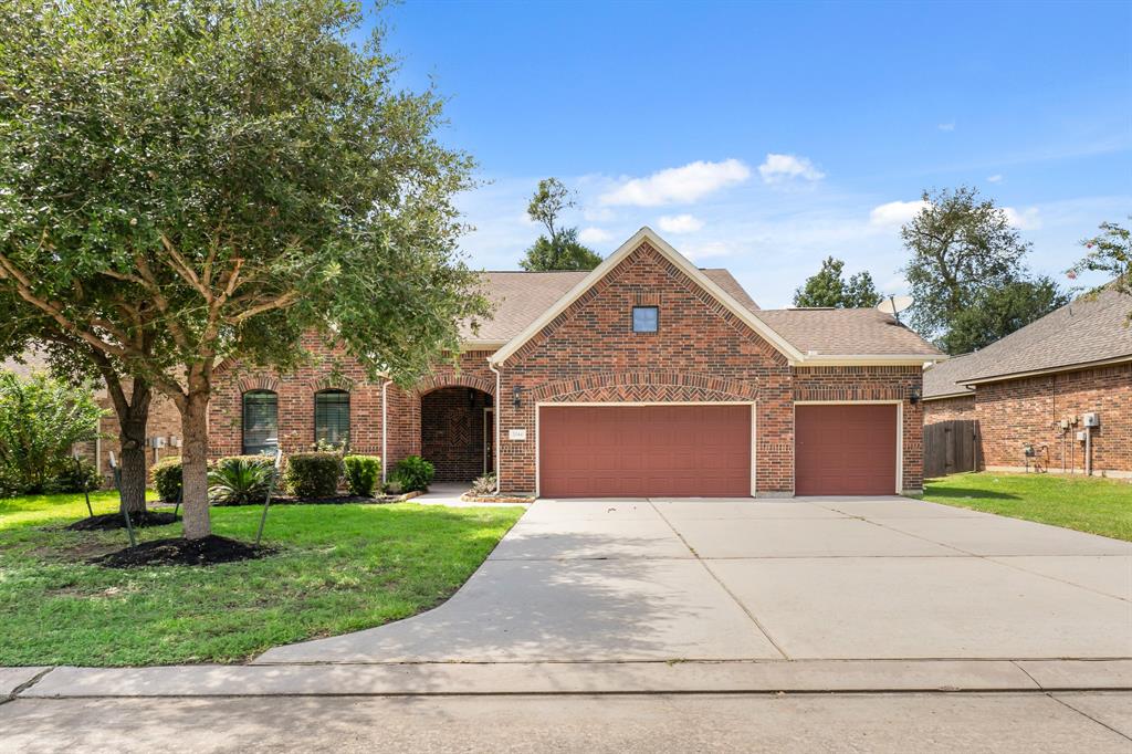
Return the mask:
<svg viewBox="0 0 1132 754">
<path fill-rule="evenodd" d="M 1132 541 L 1132 483 L 979 472 L 929 479 L 924 499 Z"/>
</svg>

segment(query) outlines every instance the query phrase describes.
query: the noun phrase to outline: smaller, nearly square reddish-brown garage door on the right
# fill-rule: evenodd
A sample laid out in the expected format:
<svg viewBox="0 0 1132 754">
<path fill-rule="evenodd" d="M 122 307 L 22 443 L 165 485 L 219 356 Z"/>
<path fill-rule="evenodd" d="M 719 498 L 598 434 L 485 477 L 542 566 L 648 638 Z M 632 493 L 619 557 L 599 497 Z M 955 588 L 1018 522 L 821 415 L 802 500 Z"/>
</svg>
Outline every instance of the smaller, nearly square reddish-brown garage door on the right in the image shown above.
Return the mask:
<svg viewBox="0 0 1132 754">
<path fill-rule="evenodd" d="M 892 495 L 897 406 L 795 408 L 796 495 Z"/>
</svg>

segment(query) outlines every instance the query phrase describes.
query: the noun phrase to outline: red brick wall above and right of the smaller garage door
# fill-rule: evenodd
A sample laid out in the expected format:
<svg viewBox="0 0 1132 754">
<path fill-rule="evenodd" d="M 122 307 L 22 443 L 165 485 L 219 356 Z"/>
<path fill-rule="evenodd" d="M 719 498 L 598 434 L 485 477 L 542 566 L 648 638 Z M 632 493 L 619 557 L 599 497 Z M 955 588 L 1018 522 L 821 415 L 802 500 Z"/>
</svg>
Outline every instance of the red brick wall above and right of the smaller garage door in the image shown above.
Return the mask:
<svg viewBox="0 0 1132 754">
<path fill-rule="evenodd" d="M 901 489 L 924 489 L 924 403 L 908 396 L 924 388 L 920 367 L 798 367 L 796 401 L 900 401 L 903 417 Z"/>
</svg>

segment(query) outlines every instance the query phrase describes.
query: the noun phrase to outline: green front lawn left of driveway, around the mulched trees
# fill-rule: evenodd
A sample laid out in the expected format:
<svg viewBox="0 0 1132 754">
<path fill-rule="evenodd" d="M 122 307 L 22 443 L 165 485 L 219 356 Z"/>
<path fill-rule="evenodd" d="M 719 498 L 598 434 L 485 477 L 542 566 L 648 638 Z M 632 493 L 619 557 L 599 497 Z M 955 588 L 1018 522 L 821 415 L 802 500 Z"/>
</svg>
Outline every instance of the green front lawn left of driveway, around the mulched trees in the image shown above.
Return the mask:
<svg viewBox="0 0 1132 754">
<path fill-rule="evenodd" d="M 115 509 L 98 494 L 95 513 Z M 67 532 L 82 496 L 0 499 L 0 666 L 239 662 L 277 644 L 398 620 L 449 597 L 521 508 L 281 505 L 277 555 L 211 566 L 112 569 L 89 558 L 126 532 Z M 213 508 L 213 531 L 251 540 L 260 508 Z M 180 524 L 138 530 L 180 534 Z"/>
</svg>

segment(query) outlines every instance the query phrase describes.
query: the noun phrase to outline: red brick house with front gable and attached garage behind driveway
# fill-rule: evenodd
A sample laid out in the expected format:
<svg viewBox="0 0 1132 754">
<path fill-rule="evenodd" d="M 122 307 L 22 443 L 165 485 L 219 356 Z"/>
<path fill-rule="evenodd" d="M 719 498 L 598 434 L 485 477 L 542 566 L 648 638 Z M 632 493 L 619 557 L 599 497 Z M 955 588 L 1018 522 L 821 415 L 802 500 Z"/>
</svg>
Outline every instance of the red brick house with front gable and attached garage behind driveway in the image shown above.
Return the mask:
<svg viewBox="0 0 1132 754">
<path fill-rule="evenodd" d="M 645 228 L 585 273 L 484 273 L 496 301 L 458 368 L 412 389 L 340 349 L 278 375 L 225 365 L 215 455 L 349 438 L 441 481 L 571 496 L 873 495 L 923 487 L 923 367 L 942 354 L 873 309 L 762 310 Z"/>
</svg>

